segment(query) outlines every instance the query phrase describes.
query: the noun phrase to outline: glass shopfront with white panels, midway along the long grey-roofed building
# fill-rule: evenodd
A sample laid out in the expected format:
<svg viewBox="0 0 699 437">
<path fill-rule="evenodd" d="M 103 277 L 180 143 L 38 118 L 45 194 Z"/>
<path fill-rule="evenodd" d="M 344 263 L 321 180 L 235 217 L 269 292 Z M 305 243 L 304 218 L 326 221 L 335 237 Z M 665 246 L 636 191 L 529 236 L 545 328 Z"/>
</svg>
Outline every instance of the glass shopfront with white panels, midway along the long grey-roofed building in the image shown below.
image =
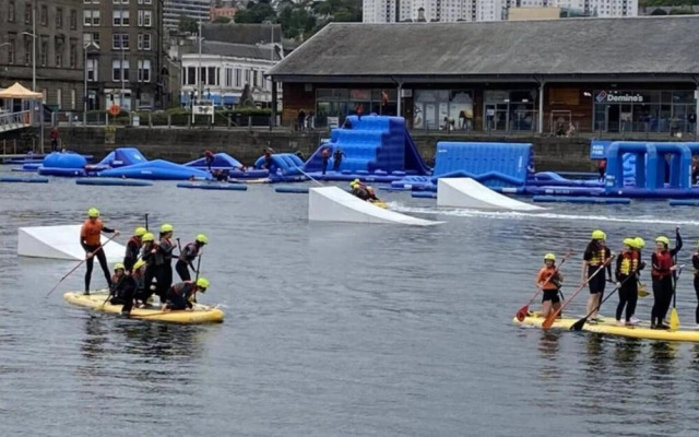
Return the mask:
<svg viewBox="0 0 699 437">
<path fill-rule="evenodd" d="M 473 130 L 473 91 L 415 90 L 413 129 Z"/>
</svg>

